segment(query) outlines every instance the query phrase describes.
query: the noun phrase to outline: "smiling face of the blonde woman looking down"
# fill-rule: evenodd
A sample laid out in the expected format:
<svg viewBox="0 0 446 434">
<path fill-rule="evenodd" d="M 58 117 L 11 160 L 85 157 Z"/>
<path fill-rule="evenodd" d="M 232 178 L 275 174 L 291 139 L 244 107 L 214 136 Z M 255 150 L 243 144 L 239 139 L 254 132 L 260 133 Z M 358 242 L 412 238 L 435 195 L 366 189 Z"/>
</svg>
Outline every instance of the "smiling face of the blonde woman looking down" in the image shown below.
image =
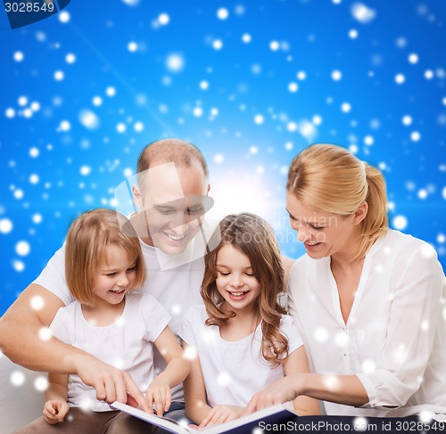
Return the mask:
<svg viewBox="0 0 446 434">
<path fill-rule="evenodd" d="M 303 242 L 310 258 L 326 258 L 348 253 L 357 246 L 358 225 L 355 213 L 341 216 L 307 209 L 292 192 L 286 192 L 286 210 L 297 239 Z"/>
</svg>

